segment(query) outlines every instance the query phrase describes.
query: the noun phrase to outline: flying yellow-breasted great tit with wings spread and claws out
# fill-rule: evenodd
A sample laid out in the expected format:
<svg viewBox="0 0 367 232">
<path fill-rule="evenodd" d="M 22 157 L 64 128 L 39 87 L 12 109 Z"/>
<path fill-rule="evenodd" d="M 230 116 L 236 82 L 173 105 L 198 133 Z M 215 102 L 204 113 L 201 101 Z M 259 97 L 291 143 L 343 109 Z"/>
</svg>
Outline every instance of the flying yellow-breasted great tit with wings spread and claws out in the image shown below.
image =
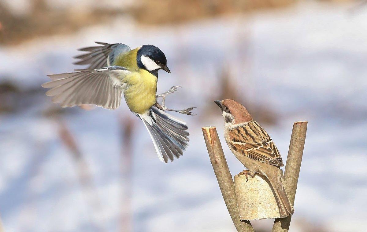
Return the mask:
<svg viewBox="0 0 367 232">
<path fill-rule="evenodd" d="M 188 127 L 164 111 L 192 115 L 193 107 L 172 110 L 164 105 L 166 96 L 177 91 L 177 86 L 156 95 L 158 70 L 170 73 L 164 53 L 153 45 L 131 50 L 125 44 L 96 43 L 102 46 L 81 48 L 79 51 L 87 53 L 75 57 L 80 59 L 75 64 L 89 65 L 87 69 L 49 75 L 52 81 L 42 85 L 50 88 L 46 95 L 62 107 L 95 104 L 116 109 L 123 94 L 127 106 L 148 129 L 159 159 L 167 163 L 179 158 L 188 146 Z M 157 97 L 162 97 L 162 104 L 157 103 Z"/>
</svg>

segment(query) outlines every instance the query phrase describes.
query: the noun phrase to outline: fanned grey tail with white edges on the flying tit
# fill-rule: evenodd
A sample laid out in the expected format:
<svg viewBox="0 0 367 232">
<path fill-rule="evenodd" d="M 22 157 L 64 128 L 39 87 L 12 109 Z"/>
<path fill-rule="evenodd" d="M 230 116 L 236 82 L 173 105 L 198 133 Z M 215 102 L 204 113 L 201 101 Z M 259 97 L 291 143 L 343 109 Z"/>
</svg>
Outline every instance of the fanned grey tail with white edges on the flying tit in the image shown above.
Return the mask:
<svg viewBox="0 0 367 232">
<path fill-rule="evenodd" d="M 153 140 L 155 150 L 161 161 L 173 161 L 186 150 L 189 132 L 186 123 L 155 106 L 146 114 L 138 114 Z"/>
</svg>

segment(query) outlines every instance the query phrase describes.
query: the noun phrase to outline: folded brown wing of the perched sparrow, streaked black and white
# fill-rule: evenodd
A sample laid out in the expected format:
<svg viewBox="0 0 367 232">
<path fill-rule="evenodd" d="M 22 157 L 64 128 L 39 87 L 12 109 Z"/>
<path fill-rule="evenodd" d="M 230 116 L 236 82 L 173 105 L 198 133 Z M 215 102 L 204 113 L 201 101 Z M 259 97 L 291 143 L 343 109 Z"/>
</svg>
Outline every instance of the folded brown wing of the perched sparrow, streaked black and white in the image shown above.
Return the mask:
<svg viewBox="0 0 367 232">
<path fill-rule="evenodd" d="M 283 167 L 278 148 L 266 131 L 255 121 L 230 130 L 230 146 L 247 157 L 259 162 Z"/>
</svg>

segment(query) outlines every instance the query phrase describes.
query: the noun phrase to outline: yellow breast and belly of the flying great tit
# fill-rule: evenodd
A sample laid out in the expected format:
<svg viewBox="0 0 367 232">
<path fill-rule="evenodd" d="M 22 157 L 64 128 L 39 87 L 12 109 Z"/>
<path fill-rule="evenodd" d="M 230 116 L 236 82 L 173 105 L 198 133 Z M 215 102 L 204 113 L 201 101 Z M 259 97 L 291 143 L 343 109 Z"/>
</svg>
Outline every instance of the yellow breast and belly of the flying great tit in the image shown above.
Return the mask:
<svg viewBox="0 0 367 232">
<path fill-rule="evenodd" d="M 157 77 L 139 69 L 125 77 L 127 88 L 124 92 L 127 106 L 134 113 L 144 114 L 156 103 Z"/>
</svg>

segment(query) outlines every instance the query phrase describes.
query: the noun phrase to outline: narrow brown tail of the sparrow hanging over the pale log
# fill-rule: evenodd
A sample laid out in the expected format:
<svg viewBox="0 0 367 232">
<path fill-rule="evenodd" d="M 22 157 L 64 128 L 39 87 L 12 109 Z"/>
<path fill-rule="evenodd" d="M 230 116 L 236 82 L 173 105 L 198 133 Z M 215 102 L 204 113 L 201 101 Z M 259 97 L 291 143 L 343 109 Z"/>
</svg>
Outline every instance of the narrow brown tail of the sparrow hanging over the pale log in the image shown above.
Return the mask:
<svg viewBox="0 0 367 232">
<path fill-rule="evenodd" d="M 290 202 L 286 189 L 284 188 L 283 179 L 280 176 L 280 169 L 273 175 L 266 176 L 275 192 L 275 200 L 279 206 L 279 214 L 281 217 L 287 217 L 294 213 L 294 208 Z"/>
</svg>

